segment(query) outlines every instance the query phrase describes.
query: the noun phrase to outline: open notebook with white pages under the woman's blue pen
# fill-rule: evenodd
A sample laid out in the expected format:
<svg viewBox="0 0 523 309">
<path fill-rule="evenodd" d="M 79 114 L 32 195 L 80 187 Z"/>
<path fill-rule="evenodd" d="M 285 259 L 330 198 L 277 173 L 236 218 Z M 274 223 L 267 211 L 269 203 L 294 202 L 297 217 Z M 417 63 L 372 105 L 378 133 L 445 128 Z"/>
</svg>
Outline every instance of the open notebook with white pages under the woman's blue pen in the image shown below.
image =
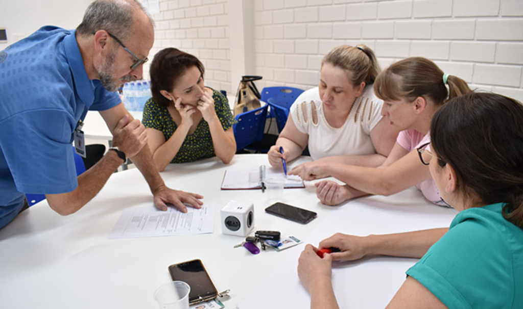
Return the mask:
<svg viewBox="0 0 523 309">
<path fill-rule="evenodd" d="M 252 170 L 225 170 L 222 190 L 261 189 L 261 182 L 269 178 L 285 179 L 284 188 L 304 188 L 305 184 L 298 175 L 287 175 L 283 171 L 260 165 Z"/>
</svg>

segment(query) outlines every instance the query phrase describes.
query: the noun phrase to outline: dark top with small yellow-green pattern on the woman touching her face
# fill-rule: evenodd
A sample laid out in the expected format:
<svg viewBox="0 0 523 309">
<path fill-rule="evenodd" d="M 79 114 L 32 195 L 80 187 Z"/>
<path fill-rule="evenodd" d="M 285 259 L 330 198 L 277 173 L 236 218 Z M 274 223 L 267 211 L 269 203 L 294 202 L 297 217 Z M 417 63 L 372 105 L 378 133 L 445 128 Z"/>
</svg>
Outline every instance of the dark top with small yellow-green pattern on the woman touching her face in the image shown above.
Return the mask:
<svg viewBox="0 0 523 309">
<path fill-rule="evenodd" d="M 212 90 L 214 100 L 214 110 L 222 124 L 223 130 L 230 129 L 236 122 L 231 113 L 231 108 L 227 98 L 220 92 Z M 153 98 L 147 100 L 143 108 L 142 123 L 146 128 L 153 128 L 162 131 L 165 140 L 168 140 L 178 127 L 170 116 L 167 108 L 164 108 Z M 171 160 L 171 163 L 192 162 L 216 156 L 212 145 L 211 132 L 207 121 L 202 120 L 198 123 L 194 133 L 187 135 L 181 144 L 178 153 Z"/>
</svg>

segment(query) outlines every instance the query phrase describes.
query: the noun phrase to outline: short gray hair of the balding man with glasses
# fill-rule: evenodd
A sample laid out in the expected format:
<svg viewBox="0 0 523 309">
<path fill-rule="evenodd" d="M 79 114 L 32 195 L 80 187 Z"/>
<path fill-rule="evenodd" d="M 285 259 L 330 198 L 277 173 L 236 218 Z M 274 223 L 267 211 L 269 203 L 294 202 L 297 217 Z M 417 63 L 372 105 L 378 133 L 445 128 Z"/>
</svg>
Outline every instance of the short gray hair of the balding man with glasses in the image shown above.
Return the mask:
<svg viewBox="0 0 523 309">
<path fill-rule="evenodd" d="M 90 35 L 98 30 L 106 30 L 124 41 L 130 36 L 135 9 L 144 11 L 151 25 L 154 25 L 151 16 L 137 0 L 96 0 L 87 7 L 76 32 L 78 35 Z"/>
</svg>

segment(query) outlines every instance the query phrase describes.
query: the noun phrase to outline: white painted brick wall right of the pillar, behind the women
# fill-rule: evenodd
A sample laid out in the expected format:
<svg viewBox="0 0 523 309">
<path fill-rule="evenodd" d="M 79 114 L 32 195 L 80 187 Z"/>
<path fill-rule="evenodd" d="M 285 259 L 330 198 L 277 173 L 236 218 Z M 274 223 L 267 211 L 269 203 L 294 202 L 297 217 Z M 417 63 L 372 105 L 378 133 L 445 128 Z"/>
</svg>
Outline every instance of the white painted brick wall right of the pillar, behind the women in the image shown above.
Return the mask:
<svg viewBox="0 0 523 309">
<path fill-rule="evenodd" d="M 522 0 L 281 0 L 274 9 L 255 2 L 263 3 L 255 5 L 256 57 L 263 58 L 256 72 L 267 74 L 260 88 L 314 87 L 323 55 L 363 43 L 382 67 L 422 56 L 472 88 L 523 101 Z M 260 50 L 258 40 L 274 49 Z"/>
</svg>

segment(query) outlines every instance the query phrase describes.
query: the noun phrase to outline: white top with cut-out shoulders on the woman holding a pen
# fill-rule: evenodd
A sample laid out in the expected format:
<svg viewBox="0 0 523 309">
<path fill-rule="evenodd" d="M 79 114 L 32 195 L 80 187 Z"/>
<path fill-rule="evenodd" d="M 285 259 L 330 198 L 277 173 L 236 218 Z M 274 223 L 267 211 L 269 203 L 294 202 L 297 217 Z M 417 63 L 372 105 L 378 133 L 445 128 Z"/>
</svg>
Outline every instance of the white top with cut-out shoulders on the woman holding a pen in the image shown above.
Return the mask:
<svg viewBox="0 0 523 309">
<path fill-rule="evenodd" d="M 382 118 L 382 106 L 383 101 L 368 85 L 354 102 L 344 125 L 334 128 L 325 119 L 320 92 L 315 87 L 300 94 L 291 105 L 290 114 L 298 130 L 309 135 L 309 152 L 317 160 L 376 153 L 370 132 Z"/>
</svg>

